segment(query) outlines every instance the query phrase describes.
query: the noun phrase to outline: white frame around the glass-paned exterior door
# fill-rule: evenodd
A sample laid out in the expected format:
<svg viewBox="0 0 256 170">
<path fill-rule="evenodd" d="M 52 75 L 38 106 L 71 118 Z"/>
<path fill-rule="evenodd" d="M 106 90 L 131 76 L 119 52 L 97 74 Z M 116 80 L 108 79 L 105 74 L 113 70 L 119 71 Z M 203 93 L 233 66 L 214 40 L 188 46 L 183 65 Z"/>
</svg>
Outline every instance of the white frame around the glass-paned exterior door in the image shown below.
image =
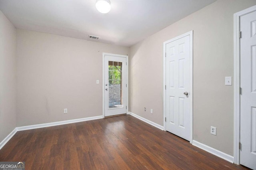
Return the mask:
<svg viewBox="0 0 256 170">
<path fill-rule="evenodd" d="M 128 114 L 128 54 L 120 55 L 120 54 L 111 54 L 111 53 L 102 53 L 102 116 L 105 117 L 105 55 L 110 55 L 114 57 L 124 57 L 126 58 L 126 115 Z"/>
</svg>

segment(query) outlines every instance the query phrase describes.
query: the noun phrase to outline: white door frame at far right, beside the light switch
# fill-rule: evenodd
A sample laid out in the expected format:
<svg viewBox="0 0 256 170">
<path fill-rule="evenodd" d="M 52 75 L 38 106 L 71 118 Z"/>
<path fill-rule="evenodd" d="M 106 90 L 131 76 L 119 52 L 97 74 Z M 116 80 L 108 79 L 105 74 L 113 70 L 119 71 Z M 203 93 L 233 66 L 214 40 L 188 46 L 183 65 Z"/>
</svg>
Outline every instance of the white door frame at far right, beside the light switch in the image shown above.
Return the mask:
<svg viewBox="0 0 256 170">
<path fill-rule="evenodd" d="M 234 163 L 240 164 L 240 17 L 256 11 L 256 5 L 234 14 Z"/>
</svg>

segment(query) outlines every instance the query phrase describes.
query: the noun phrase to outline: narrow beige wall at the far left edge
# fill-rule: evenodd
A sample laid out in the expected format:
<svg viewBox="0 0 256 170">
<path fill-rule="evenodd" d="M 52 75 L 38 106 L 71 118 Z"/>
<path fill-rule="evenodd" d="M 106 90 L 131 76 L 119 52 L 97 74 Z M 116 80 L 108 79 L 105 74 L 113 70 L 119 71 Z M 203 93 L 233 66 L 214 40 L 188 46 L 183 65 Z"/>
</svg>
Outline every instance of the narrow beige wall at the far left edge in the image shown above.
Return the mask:
<svg viewBox="0 0 256 170">
<path fill-rule="evenodd" d="M 16 127 L 16 29 L 0 11 L 0 142 Z"/>
</svg>

